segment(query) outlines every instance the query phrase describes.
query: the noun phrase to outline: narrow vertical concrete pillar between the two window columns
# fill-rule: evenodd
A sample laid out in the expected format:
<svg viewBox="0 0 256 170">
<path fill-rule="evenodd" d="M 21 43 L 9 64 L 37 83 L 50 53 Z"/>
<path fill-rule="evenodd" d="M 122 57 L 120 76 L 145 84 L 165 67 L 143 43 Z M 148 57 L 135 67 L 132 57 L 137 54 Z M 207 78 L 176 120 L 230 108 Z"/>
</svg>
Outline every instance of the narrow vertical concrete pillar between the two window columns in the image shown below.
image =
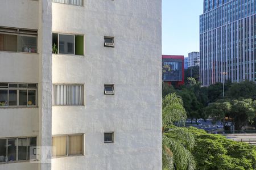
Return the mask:
<svg viewBox="0 0 256 170">
<path fill-rule="evenodd" d="M 40 1 L 39 9 L 39 170 L 50 170 L 51 150 L 43 147 L 52 146 L 52 0 Z"/>
</svg>

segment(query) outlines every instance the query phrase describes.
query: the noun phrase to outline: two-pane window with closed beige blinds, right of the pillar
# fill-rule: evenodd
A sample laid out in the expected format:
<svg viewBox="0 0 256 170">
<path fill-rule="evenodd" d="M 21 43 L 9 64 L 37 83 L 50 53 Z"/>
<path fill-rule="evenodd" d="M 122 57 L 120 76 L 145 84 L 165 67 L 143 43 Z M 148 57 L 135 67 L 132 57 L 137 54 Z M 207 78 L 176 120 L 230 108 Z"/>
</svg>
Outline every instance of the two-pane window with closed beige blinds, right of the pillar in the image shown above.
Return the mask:
<svg viewBox="0 0 256 170">
<path fill-rule="evenodd" d="M 84 154 L 84 135 L 63 135 L 52 137 L 52 156 Z"/>
</svg>

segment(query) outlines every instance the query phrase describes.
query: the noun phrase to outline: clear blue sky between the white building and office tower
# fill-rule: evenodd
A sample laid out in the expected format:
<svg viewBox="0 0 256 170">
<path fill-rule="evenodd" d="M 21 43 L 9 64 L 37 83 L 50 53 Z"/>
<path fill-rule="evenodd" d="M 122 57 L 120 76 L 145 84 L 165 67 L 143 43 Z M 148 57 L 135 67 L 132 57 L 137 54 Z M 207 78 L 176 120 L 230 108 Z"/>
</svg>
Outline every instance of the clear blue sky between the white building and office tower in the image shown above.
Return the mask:
<svg viewBox="0 0 256 170">
<path fill-rule="evenodd" d="M 199 15 L 203 0 L 162 0 L 162 54 L 199 52 Z"/>
</svg>

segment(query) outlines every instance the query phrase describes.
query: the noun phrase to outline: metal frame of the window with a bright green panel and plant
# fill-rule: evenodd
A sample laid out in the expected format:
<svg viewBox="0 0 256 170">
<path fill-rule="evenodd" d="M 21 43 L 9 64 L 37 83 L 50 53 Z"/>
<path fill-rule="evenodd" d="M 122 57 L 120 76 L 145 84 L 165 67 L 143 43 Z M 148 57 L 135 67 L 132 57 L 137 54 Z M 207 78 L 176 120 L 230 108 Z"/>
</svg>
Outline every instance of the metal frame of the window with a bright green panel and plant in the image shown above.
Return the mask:
<svg viewBox="0 0 256 170">
<path fill-rule="evenodd" d="M 58 2 L 56 2 L 58 3 Z M 84 42 L 84 34 L 79 34 L 79 33 L 61 33 L 61 32 L 52 32 L 52 34 L 55 33 L 57 34 L 57 55 L 67 55 L 67 56 L 85 56 L 85 42 Z M 67 35 L 67 36 L 73 36 L 73 41 L 74 41 L 74 45 L 73 45 L 73 50 L 74 53 L 73 54 L 64 54 L 64 53 L 60 53 L 60 35 Z M 82 55 L 80 54 L 76 54 L 76 36 L 82 36 L 82 48 L 83 48 L 83 53 Z M 64 44 L 65 45 L 65 44 Z M 55 53 L 52 53 L 55 54 Z"/>
</svg>

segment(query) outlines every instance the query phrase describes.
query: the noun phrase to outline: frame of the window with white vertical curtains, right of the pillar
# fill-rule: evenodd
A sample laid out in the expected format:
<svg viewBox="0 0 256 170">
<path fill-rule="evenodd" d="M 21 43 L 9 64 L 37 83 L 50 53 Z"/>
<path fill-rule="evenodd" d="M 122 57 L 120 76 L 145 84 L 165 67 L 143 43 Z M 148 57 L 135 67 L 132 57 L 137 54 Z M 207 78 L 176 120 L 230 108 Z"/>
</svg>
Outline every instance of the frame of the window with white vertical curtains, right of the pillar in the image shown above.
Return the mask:
<svg viewBox="0 0 256 170">
<path fill-rule="evenodd" d="M 54 86 L 82 86 L 82 104 L 81 105 L 73 105 L 73 104 L 67 104 L 67 105 L 59 105 L 55 104 L 55 91 Z M 84 107 L 85 106 L 85 84 L 79 84 L 79 83 L 52 83 L 52 106 L 55 107 Z"/>
</svg>

